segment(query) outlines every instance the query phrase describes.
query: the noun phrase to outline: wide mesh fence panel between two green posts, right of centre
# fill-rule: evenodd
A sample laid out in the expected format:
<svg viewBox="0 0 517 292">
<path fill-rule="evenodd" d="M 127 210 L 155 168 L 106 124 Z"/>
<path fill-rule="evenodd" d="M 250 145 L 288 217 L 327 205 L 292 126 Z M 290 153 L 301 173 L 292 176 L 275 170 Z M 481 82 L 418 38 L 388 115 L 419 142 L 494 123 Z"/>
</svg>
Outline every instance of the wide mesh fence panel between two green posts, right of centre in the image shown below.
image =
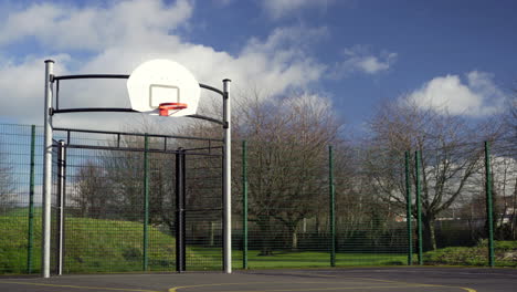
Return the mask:
<svg viewBox="0 0 517 292">
<path fill-rule="evenodd" d="M 407 264 L 403 154 L 344 149 L 336 167 L 337 264 Z"/>
</svg>

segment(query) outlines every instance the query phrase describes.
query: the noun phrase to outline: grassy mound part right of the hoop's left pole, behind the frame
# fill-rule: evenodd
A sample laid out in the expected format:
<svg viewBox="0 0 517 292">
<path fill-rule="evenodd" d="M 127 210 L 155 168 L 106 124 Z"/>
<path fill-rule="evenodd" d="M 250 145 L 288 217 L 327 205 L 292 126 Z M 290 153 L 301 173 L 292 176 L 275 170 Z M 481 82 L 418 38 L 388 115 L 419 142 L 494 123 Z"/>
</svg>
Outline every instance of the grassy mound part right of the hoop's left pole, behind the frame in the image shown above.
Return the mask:
<svg viewBox="0 0 517 292">
<path fill-rule="evenodd" d="M 68 218 L 67 272 L 127 272 L 143 270 L 143 225 L 131 221 Z M 175 267 L 175 239 L 149 227 L 149 270 Z"/>
</svg>

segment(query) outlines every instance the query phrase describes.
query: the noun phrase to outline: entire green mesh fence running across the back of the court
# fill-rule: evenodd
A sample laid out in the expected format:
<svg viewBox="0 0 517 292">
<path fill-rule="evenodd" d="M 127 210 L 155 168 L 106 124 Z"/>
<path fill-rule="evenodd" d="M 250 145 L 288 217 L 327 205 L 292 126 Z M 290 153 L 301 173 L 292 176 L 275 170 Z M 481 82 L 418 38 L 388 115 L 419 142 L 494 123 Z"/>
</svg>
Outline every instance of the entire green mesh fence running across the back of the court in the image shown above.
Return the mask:
<svg viewBox="0 0 517 292">
<path fill-rule="evenodd" d="M 0 273 L 40 271 L 42 132 L 0 125 Z M 222 269 L 220 140 L 54 138 L 54 272 L 60 194 L 63 273 L 176 271 L 178 179 L 183 268 Z M 235 142 L 233 267 L 516 265 L 516 153 L 504 139 L 407 153 Z"/>
</svg>

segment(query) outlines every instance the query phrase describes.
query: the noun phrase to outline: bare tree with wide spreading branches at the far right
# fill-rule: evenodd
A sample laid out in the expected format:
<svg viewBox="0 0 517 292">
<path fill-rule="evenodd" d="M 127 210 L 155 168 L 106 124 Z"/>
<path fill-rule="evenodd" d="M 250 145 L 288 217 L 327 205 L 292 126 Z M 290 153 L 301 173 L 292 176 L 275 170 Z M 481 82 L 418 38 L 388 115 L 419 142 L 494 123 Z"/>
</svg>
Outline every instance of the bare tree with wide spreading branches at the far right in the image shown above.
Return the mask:
<svg viewBox="0 0 517 292">
<path fill-rule="evenodd" d="M 400 160 L 405 150 L 421 153 L 424 247 L 436 249 L 434 221 L 462 194 L 475 194 L 469 179 L 483 167 L 482 142 L 493 138 L 494 131 L 479 125 L 471 128 L 460 116 L 423 109 L 409 100 L 383 104 L 369 125 L 370 148 L 377 155 L 367 163 L 372 170 L 372 184 L 386 201 L 405 206 Z M 412 174 L 414 184 L 414 170 Z"/>
</svg>

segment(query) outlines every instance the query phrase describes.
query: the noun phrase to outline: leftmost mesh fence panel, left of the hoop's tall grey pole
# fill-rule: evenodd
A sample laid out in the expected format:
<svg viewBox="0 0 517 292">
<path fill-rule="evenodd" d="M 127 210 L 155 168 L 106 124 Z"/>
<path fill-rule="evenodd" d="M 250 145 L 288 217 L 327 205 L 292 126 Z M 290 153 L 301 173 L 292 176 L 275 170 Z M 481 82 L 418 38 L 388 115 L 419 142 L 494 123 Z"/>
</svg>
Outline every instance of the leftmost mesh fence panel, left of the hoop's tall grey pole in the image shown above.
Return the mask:
<svg viewBox="0 0 517 292">
<path fill-rule="evenodd" d="M 0 273 L 36 273 L 43 129 L 0 125 Z"/>
</svg>

